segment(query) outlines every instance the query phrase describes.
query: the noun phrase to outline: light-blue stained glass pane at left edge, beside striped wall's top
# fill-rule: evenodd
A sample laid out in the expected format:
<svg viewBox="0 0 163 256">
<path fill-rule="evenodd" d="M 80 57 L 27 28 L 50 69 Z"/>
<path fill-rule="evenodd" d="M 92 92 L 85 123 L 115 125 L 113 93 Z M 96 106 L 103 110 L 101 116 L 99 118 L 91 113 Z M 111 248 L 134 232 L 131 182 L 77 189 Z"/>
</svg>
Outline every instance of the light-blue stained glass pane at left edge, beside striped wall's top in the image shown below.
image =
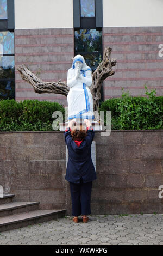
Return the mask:
<svg viewBox="0 0 163 256">
<path fill-rule="evenodd" d="M 0 32 L 0 54 L 14 53 L 14 33 L 9 31 Z"/>
</svg>

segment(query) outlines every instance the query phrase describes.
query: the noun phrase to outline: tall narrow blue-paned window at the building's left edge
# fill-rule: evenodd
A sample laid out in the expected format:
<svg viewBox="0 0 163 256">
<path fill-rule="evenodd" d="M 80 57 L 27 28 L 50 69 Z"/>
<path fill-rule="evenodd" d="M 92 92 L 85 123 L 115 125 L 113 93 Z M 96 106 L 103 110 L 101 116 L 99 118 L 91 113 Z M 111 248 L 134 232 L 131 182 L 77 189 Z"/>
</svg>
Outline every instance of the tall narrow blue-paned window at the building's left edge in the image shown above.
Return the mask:
<svg viewBox="0 0 163 256">
<path fill-rule="evenodd" d="M 15 99 L 14 32 L 7 28 L 7 0 L 0 0 L 0 7 L 0 100 Z"/>
</svg>

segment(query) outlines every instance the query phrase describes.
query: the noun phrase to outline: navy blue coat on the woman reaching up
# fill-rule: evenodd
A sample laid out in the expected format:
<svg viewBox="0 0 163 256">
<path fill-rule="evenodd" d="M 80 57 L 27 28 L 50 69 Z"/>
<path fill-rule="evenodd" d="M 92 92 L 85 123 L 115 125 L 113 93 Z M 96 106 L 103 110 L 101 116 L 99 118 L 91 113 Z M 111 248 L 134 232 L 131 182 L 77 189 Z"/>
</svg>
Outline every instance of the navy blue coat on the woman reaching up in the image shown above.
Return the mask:
<svg viewBox="0 0 163 256">
<path fill-rule="evenodd" d="M 87 130 L 87 136 L 78 147 L 73 141 L 71 132 L 65 131 L 65 142 L 68 149 L 68 162 L 65 179 L 69 182 L 90 182 L 96 179 L 96 171 L 91 158 L 91 144 L 95 131 Z"/>
</svg>

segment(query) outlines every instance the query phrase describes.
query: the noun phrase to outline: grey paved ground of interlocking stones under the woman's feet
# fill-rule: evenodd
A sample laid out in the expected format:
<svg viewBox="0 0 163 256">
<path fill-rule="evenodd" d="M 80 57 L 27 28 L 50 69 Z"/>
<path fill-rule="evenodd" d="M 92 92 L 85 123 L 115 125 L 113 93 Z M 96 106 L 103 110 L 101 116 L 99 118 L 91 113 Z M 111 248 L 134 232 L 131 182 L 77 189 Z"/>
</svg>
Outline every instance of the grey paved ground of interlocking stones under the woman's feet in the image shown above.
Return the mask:
<svg viewBox="0 0 163 256">
<path fill-rule="evenodd" d="M 163 214 L 89 217 L 86 224 L 66 216 L 4 231 L 0 245 L 163 245 Z"/>
</svg>

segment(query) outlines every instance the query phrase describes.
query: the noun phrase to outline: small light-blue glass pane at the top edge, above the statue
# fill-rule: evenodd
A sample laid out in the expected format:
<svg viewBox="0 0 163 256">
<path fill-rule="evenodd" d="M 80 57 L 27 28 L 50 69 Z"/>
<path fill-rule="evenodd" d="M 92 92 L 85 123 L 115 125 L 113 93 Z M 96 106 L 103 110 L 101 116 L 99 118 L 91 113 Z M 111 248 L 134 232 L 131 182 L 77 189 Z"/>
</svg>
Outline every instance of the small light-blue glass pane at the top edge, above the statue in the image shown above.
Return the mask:
<svg viewBox="0 0 163 256">
<path fill-rule="evenodd" d="M 95 0 L 80 0 L 81 17 L 95 17 Z"/>
</svg>

